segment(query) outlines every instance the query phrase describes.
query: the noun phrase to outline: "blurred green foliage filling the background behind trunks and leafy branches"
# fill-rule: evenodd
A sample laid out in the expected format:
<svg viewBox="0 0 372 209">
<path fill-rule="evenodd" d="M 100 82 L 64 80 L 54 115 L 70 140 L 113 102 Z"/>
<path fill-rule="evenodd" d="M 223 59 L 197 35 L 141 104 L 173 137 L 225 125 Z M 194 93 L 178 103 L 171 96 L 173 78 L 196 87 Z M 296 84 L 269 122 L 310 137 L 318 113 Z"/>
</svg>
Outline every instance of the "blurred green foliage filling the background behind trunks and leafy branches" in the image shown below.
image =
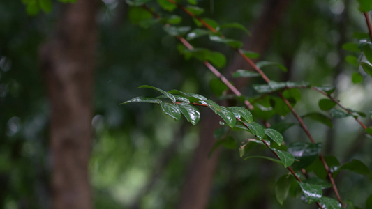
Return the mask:
<svg viewBox="0 0 372 209">
<path fill-rule="evenodd" d="M 215 1 L 213 5 L 211 2 L 198 1 L 198 6 L 204 8 L 203 17 L 220 24 L 239 22 L 248 29 L 258 20 L 264 6 L 263 1 L 244 4 Z M 157 6 L 156 2 L 151 3 Z M 38 65 L 38 49 L 53 35 L 63 6 L 45 0 L 0 1 L 0 208 L 50 208 L 49 104 Z M 343 61 L 346 53 L 356 57 L 359 51 L 345 52 L 342 45 L 356 42 L 366 33 L 358 8 L 357 1 L 348 0 L 291 1 L 272 34 L 271 44 L 260 54 L 261 59 L 284 63 L 289 72 L 267 70 L 267 75 L 278 82 L 288 76 L 296 82 L 335 85 L 337 98 L 345 107 L 364 112 L 371 109 L 371 77 L 362 74 L 362 81 L 357 76 L 351 79 L 356 68 L 349 63 L 355 63 L 355 59 Z M 45 13 L 38 13 L 40 9 Z M 170 15 L 166 10 L 163 13 Z M 181 11 L 174 10 L 172 14 L 182 17 L 180 26 L 194 26 L 193 20 Z M 96 45 L 92 119 L 95 137 L 90 162 L 94 203 L 96 208 L 129 208 L 135 201 L 140 208 L 174 208 L 188 162 L 198 144 L 200 127 L 176 123 L 155 105 L 123 107 L 119 103 L 139 94 L 154 95 L 154 91 L 144 88 L 135 90 L 142 84 L 212 96 L 209 82 L 215 78 L 200 61 L 185 61 L 177 50 L 177 39 L 165 33 L 161 24 L 149 24 L 142 29 L 133 25 L 128 15 L 131 10 L 119 0 L 102 1 L 97 14 L 100 40 Z M 248 36 L 235 29 L 225 29 L 224 34 L 237 40 Z M 204 37 L 193 40 L 193 45 L 218 51 L 226 56 L 226 65 L 232 63 L 233 51 L 224 45 Z M 221 72 L 225 70 L 221 68 Z M 261 82 L 259 78 L 252 80 Z M 249 84 L 243 91 L 252 96 L 255 94 L 252 89 Z M 301 92 L 301 102 L 296 106 L 301 115 L 319 112 L 330 105 L 318 107 L 321 95 L 308 90 Z M 265 106 L 265 101 L 262 105 Z M 283 117 L 274 120 L 281 121 Z M 285 118 L 295 123 L 291 116 Z M 367 118 L 362 120 L 368 123 Z M 340 162 L 357 158 L 371 169 L 371 139 L 364 137 L 364 131 L 352 117 L 332 122 L 332 130 L 312 120 L 306 124 L 315 141 L 328 150 L 327 154 L 335 155 Z M 245 139 L 237 132 L 232 136 Z M 306 141 L 297 126 L 285 131 L 284 138 L 288 144 Z M 159 166 L 166 150 L 170 150 L 169 159 Z M 263 148 L 251 152 L 269 155 Z M 237 150 L 225 149 L 216 169 L 209 208 L 311 208 L 292 197 L 283 206 L 276 201 L 274 185 L 284 174 L 285 170 L 273 162 L 243 161 Z M 151 180 L 154 181 L 151 189 L 144 189 Z M 341 171 L 336 181 L 343 199 L 352 200 L 355 206 L 365 206 L 372 194 L 372 187 L 367 186 L 371 180 Z M 367 204 L 371 205 L 371 198 Z"/>
</svg>

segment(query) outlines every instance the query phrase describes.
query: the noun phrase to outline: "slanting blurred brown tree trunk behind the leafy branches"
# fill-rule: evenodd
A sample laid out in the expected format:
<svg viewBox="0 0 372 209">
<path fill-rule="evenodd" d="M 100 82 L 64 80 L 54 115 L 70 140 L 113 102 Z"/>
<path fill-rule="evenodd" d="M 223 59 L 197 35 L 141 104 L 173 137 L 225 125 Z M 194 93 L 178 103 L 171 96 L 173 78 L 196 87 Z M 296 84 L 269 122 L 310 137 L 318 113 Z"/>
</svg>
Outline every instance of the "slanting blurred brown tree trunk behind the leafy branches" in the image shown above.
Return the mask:
<svg viewBox="0 0 372 209">
<path fill-rule="evenodd" d="M 265 8 L 262 11 L 260 19 L 255 24 L 252 38 L 245 41 L 248 49 L 254 52 L 262 53 L 267 48 L 271 38 L 271 32 L 278 24 L 279 17 L 283 12 L 288 0 L 267 0 Z M 232 65 L 228 68 L 229 72 L 241 68 L 240 66 L 246 63 L 236 57 Z M 229 73 L 230 74 L 230 73 Z M 235 82 L 238 88 L 244 85 L 245 80 Z M 211 111 L 207 114 L 202 114 L 202 118 L 207 120 L 202 121 L 202 132 L 200 133 L 200 142 L 195 150 L 193 161 L 191 162 L 186 183 L 179 201 L 179 209 L 202 209 L 207 208 L 209 201 L 209 192 L 214 176 L 214 170 L 218 164 L 219 149 L 217 149 L 210 158 L 208 153 L 215 143 L 213 132 L 218 127 L 218 116 Z"/>
</svg>

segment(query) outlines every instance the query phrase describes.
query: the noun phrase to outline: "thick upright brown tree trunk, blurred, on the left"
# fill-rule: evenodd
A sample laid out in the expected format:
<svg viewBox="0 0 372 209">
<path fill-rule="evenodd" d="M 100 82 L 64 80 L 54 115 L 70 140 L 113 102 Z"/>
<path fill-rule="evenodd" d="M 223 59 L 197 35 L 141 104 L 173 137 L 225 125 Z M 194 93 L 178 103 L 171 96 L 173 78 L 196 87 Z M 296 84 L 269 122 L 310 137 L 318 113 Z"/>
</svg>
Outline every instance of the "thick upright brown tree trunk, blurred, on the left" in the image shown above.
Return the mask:
<svg viewBox="0 0 372 209">
<path fill-rule="evenodd" d="M 88 162 L 97 3 L 67 4 L 57 31 L 40 51 L 52 111 L 53 208 L 92 208 Z"/>
</svg>

